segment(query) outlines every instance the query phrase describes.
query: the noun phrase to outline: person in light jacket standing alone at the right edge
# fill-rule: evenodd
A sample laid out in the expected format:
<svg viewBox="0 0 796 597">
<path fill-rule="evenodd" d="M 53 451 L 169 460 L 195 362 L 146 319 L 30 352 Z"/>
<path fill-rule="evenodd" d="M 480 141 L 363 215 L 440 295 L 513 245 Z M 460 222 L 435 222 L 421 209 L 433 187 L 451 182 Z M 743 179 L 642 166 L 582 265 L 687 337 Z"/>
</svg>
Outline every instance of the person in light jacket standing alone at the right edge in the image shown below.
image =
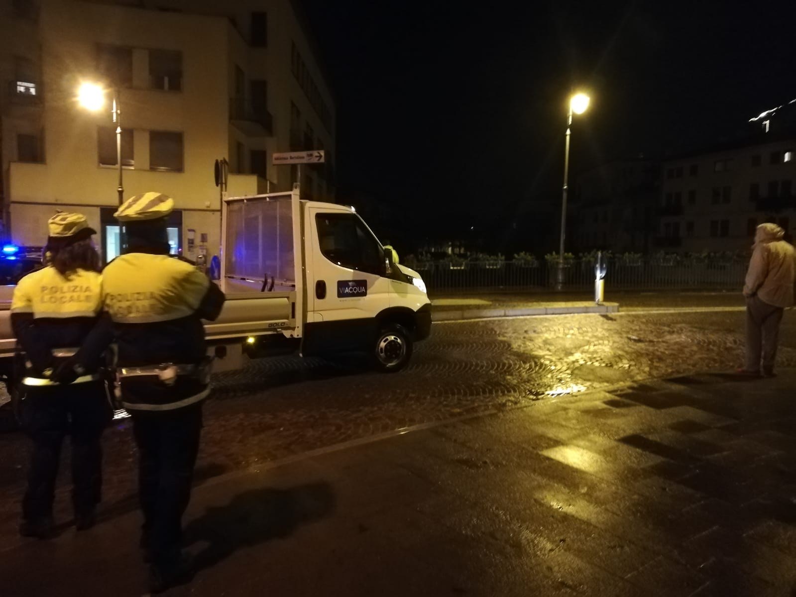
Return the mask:
<svg viewBox="0 0 796 597">
<path fill-rule="evenodd" d="M 760 224 L 747 270 L 746 364 L 739 373 L 774 375 L 782 312 L 794 305 L 796 252 L 777 224 Z"/>
</svg>

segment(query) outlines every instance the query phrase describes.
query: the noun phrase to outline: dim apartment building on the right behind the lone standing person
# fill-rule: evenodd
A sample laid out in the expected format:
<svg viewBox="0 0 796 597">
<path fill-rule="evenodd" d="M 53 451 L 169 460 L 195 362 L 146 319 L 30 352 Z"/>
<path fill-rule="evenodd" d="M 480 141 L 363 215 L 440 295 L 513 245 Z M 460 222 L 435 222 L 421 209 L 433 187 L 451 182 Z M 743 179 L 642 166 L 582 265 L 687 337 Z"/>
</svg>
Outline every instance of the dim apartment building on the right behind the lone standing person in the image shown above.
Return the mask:
<svg viewBox="0 0 796 597">
<path fill-rule="evenodd" d="M 796 227 L 796 135 L 754 137 L 670 158 L 662 166 L 657 244 L 672 252 L 743 252 L 755 228 Z"/>
</svg>

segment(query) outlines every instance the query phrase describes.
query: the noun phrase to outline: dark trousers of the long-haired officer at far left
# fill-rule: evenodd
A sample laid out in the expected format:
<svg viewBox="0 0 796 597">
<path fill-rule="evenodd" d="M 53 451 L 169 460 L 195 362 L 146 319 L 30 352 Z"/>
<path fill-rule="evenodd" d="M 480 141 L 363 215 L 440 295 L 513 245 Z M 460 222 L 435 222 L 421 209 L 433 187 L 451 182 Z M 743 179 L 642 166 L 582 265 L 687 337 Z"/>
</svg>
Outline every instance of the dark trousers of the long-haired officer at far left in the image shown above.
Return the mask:
<svg viewBox="0 0 796 597">
<path fill-rule="evenodd" d="M 88 516 L 102 494 L 100 437 L 112 416 L 105 384 L 92 381 L 23 391 L 22 428 L 33 439 L 33 450 L 22 517 L 36 522 L 52 516 L 65 435 L 72 440 L 72 506 L 76 516 Z"/>
</svg>

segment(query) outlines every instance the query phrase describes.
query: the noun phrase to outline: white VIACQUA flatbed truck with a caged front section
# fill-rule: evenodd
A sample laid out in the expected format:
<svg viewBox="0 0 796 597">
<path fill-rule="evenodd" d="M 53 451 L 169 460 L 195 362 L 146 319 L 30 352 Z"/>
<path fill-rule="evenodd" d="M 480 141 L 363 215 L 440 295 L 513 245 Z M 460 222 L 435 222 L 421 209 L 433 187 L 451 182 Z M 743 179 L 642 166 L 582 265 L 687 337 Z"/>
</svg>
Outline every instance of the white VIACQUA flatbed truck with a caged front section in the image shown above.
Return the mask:
<svg viewBox="0 0 796 597">
<path fill-rule="evenodd" d="M 392 263 L 353 208 L 303 201 L 298 189 L 224 198 L 220 317 L 205 322 L 213 369 L 245 357 L 366 353 L 399 371 L 431 332 L 431 302 L 415 271 Z M 10 298 L 0 310 L 0 373 L 14 385 Z"/>
</svg>

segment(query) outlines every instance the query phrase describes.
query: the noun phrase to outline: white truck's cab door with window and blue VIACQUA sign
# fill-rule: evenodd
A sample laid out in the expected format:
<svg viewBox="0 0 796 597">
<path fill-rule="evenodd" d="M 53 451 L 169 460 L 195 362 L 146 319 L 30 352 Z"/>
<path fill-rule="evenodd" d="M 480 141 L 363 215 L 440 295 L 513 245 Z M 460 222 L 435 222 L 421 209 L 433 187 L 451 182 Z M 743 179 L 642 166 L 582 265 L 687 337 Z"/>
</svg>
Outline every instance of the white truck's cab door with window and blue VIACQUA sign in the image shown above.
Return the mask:
<svg viewBox="0 0 796 597">
<path fill-rule="evenodd" d="M 384 252 L 365 222 L 348 210 L 308 208 L 305 353 L 367 347 L 375 316 L 389 306 Z"/>
</svg>

